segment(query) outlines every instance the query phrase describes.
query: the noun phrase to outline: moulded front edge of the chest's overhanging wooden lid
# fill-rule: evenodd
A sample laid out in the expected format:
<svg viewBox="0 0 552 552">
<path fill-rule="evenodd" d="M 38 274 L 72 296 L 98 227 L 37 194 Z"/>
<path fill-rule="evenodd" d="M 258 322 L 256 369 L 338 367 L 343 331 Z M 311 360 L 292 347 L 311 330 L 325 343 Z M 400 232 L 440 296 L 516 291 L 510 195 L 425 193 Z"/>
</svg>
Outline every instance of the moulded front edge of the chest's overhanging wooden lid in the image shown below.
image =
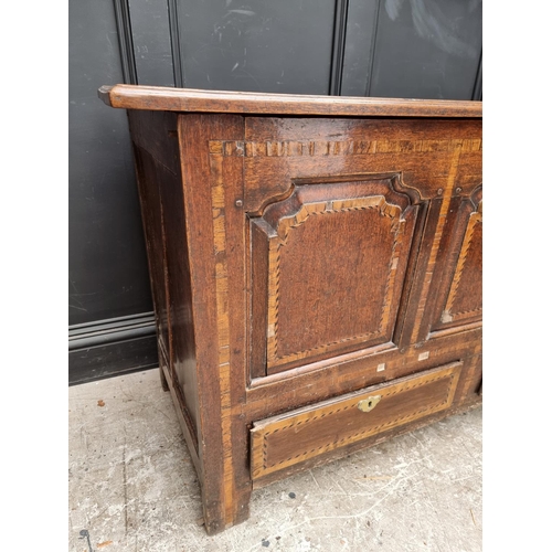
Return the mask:
<svg viewBox="0 0 552 552">
<path fill-rule="evenodd" d="M 308 96 L 200 91 L 117 84 L 100 86 L 98 97 L 121 109 L 372 117 L 482 117 L 482 102 L 351 96 Z"/>
</svg>

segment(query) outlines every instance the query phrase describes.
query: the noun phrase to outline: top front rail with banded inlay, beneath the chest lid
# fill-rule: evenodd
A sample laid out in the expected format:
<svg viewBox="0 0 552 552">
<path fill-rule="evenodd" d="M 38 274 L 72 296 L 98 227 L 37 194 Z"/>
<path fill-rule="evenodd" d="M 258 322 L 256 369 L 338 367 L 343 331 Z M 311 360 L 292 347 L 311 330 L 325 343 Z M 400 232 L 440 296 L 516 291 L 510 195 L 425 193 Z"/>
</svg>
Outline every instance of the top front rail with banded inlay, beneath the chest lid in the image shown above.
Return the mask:
<svg viewBox="0 0 552 552">
<path fill-rule="evenodd" d="M 469 195 L 481 183 L 480 134 L 480 119 L 246 117 L 245 209 L 262 211 L 291 181 L 329 176 L 400 173 L 413 202 L 440 198 L 450 179 Z"/>
</svg>

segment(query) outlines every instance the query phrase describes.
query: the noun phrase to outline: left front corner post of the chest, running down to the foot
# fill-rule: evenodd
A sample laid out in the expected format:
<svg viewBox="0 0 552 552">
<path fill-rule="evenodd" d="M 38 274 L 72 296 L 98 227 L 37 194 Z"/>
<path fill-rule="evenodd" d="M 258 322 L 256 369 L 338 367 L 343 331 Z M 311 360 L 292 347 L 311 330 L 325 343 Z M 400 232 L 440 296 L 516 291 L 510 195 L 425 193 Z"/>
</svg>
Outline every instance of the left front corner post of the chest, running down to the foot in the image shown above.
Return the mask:
<svg viewBox="0 0 552 552">
<path fill-rule="evenodd" d="M 242 194 L 243 157 L 225 157 L 224 151 L 224 140 L 243 140 L 243 118 L 232 115 L 190 114 L 179 118 L 197 321 L 200 479 L 210 534 L 246 519 L 251 495 L 248 474 L 240 470 L 243 453 L 235 454 L 246 439 L 246 428 L 236 412 L 245 402 L 245 323 L 237 322 L 245 285 L 240 276 L 229 278 L 229 274 L 244 274 L 236 266 L 229 270 L 229 263 L 244 262 L 244 224 L 226 221 L 243 216 L 235 206 Z M 233 317 L 235 325 L 231 323 Z"/>
</svg>

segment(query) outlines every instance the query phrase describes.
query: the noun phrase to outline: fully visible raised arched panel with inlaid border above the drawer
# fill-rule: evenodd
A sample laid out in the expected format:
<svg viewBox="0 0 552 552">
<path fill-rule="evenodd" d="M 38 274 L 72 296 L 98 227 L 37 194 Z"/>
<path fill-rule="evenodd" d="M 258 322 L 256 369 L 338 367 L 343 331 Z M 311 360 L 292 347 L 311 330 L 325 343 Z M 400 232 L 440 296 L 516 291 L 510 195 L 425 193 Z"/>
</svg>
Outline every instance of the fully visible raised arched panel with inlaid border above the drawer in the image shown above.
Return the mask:
<svg viewBox="0 0 552 552">
<path fill-rule="evenodd" d="M 418 208 L 397 174 L 357 178 L 296 183 L 251 219 L 255 373 L 393 346 Z"/>
</svg>

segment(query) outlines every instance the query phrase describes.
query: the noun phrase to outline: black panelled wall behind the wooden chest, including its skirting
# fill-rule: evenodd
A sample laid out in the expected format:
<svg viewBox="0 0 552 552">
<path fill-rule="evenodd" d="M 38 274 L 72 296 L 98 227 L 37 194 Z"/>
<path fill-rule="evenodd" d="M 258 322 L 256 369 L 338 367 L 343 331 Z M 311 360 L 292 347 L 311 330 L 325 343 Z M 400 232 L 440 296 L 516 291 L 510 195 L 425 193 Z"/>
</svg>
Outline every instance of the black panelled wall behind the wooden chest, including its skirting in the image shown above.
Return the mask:
<svg viewBox="0 0 552 552">
<path fill-rule="evenodd" d="M 481 98 L 481 0 L 70 0 L 70 383 L 157 365 L 132 83 Z"/>
</svg>

